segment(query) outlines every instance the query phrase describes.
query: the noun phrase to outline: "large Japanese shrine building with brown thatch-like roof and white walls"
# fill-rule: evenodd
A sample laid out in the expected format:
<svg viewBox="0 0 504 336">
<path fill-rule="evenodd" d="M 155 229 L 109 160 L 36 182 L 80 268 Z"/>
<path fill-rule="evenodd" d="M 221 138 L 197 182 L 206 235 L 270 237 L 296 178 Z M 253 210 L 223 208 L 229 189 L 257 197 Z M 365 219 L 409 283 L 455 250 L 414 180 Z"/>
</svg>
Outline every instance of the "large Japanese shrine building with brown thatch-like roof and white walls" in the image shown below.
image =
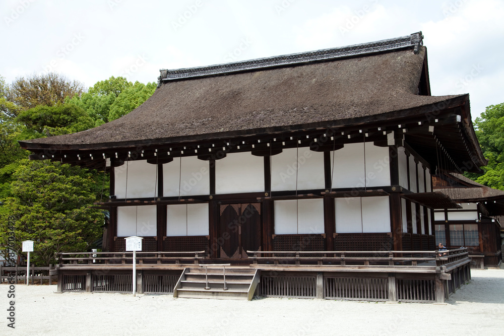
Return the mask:
<svg viewBox="0 0 504 336">
<path fill-rule="evenodd" d="M 467 94 L 431 96 L 421 32 L 199 68 L 117 120 L 21 142 L 110 172 L 106 242 L 124 250 L 433 250 L 431 176 L 486 164 Z"/>
</svg>

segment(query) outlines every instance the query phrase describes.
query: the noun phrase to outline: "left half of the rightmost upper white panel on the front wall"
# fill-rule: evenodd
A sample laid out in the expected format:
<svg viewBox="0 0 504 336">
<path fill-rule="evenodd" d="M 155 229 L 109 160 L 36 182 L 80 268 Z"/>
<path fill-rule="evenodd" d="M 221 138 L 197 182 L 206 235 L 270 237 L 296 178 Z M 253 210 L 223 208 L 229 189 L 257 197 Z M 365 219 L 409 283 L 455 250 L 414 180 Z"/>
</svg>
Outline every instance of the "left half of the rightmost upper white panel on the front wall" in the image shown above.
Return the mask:
<svg viewBox="0 0 504 336">
<path fill-rule="evenodd" d="M 331 152 L 333 188 L 364 187 L 364 144 L 345 144 Z"/>
</svg>

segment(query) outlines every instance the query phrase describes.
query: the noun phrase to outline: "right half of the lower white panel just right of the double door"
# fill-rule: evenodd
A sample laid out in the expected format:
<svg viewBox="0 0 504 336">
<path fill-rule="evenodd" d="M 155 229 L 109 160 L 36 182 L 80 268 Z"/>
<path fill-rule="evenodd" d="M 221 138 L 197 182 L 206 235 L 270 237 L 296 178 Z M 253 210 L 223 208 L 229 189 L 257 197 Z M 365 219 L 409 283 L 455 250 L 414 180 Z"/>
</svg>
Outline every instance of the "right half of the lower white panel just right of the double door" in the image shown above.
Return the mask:
<svg viewBox="0 0 504 336">
<path fill-rule="evenodd" d="M 298 233 L 324 233 L 324 200 L 299 199 L 298 207 Z"/>
</svg>

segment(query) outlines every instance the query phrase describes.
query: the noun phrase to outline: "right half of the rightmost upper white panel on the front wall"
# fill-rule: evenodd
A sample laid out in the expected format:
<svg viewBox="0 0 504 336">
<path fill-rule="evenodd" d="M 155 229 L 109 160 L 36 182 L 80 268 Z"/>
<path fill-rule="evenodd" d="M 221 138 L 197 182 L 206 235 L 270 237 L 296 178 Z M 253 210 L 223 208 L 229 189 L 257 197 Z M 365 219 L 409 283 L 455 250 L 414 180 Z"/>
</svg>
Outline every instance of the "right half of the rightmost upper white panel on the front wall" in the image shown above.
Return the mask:
<svg viewBox="0 0 504 336">
<path fill-rule="evenodd" d="M 390 185 L 390 156 L 389 147 L 366 146 L 366 186 L 377 187 Z M 387 231 L 389 232 L 389 231 Z"/>
</svg>

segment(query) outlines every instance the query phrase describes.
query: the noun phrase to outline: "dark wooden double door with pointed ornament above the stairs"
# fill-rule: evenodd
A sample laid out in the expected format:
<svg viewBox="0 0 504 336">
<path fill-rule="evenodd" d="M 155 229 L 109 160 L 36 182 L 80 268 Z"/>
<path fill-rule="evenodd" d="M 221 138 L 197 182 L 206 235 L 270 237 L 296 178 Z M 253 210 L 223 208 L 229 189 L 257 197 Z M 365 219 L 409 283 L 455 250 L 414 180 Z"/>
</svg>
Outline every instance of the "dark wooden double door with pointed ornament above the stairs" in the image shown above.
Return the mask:
<svg viewBox="0 0 504 336">
<path fill-rule="evenodd" d="M 221 204 L 219 236 L 221 258 L 247 258 L 247 250 L 261 249 L 261 204 Z"/>
</svg>

